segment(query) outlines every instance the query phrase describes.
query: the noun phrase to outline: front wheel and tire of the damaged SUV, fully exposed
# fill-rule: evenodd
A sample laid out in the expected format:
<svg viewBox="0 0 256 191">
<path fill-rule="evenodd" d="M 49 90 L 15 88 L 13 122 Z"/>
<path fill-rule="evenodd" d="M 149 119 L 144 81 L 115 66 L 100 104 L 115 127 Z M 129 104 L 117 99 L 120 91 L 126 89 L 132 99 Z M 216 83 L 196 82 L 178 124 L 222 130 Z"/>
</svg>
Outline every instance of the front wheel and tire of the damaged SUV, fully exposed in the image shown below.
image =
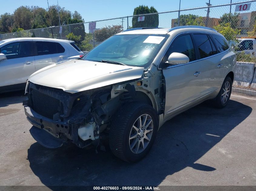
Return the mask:
<svg viewBox="0 0 256 191">
<path fill-rule="evenodd" d="M 157 114 L 150 105 L 128 103 L 118 111 L 111 124 L 110 149 L 123 161 L 139 161 L 152 147 L 157 130 Z"/>
</svg>

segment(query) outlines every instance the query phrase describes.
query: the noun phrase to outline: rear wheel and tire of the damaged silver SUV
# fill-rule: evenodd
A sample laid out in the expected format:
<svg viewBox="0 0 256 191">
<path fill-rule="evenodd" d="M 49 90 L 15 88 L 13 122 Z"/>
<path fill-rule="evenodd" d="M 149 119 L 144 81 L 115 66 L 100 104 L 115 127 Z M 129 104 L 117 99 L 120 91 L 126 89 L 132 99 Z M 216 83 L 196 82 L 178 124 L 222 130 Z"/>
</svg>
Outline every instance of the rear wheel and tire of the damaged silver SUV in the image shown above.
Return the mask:
<svg viewBox="0 0 256 191">
<path fill-rule="evenodd" d="M 228 104 L 232 91 L 232 80 L 229 76 L 224 79 L 220 92 L 214 98 L 213 104 L 216 108 L 223 108 Z"/>
</svg>

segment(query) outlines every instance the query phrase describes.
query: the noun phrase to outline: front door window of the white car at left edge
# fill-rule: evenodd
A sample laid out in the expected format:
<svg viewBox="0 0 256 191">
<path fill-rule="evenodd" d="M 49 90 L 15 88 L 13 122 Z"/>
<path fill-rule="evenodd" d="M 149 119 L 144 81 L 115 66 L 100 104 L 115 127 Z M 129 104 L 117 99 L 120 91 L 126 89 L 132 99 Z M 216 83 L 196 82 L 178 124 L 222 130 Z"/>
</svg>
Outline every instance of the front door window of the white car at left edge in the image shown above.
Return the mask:
<svg viewBox="0 0 256 191">
<path fill-rule="evenodd" d="M 0 49 L 7 59 L 23 58 L 30 56 L 30 42 L 15 42 L 3 46 Z"/>
</svg>

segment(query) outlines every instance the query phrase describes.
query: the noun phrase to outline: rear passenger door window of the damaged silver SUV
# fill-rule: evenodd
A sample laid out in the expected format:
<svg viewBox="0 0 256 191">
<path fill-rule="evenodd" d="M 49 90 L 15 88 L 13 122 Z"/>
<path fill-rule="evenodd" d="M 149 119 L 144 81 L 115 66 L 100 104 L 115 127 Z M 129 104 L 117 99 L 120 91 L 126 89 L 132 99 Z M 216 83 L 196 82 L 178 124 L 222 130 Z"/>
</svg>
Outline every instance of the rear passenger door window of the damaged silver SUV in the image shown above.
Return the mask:
<svg viewBox="0 0 256 191">
<path fill-rule="evenodd" d="M 201 58 L 217 54 L 216 48 L 207 34 L 194 34 L 194 39 Z"/>
</svg>

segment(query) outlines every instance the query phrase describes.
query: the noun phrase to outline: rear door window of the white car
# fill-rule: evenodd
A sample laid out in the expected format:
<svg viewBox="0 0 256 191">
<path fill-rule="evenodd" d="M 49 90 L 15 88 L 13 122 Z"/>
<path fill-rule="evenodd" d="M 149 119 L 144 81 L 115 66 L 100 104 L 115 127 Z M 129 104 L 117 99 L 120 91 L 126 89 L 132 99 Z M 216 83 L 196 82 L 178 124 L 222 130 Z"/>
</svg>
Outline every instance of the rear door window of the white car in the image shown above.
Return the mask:
<svg viewBox="0 0 256 191">
<path fill-rule="evenodd" d="M 56 43 L 53 42 L 36 42 L 37 55 L 56 54 L 57 47 Z"/>
</svg>

